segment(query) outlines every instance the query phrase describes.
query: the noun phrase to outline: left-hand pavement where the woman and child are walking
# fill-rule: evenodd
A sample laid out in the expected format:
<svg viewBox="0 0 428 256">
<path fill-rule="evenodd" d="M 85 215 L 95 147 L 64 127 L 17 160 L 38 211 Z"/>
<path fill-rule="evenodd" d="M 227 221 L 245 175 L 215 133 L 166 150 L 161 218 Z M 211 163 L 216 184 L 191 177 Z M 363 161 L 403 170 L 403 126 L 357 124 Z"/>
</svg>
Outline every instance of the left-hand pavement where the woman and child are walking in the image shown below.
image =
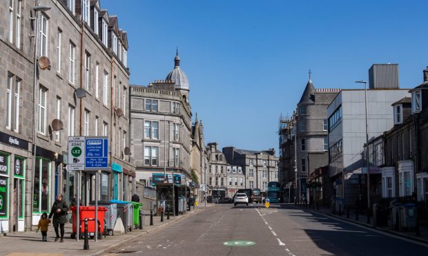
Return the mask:
<svg viewBox="0 0 428 256">
<path fill-rule="evenodd" d="M 160 222 L 160 216 L 153 217 L 153 226 L 150 226 L 150 215 L 146 215 L 144 222 L 145 226 L 142 230 L 136 229 L 132 232 L 126 233 L 126 235 L 107 235 L 95 242 L 93 239 L 89 240 L 89 250 L 83 250 L 84 240 L 80 239 L 77 242 L 75 239 L 70 238 L 72 232 L 71 224 L 66 224 L 66 234 L 64 235 L 64 243 L 54 242 L 55 231 L 53 227 L 49 227 L 48 231 L 48 242 L 41 241 L 41 233 L 36 232 L 19 232 L 19 233 L 8 233 L 6 236 L 0 237 L 0 255 L 23 255 L 23 256 L 35 256 L 35 255 L 101 255 L 106 250 L 112 250 L 117 246 L 123 246 L 127 242 L 142 237 L 153 231 L 157 231 L 159 228 L 164 228 L 174 222 L 180 222 L 186 220 L 186 218 L 192 215 L 198 214 L 205 209 L 213 206 L 208 204 L 207 207 L 204 204 L 200 204 L 193 211 L 188 211 L 184 215 L 171 216 L 170 220 L 166 220 L 164 216 L 164 222 Z"/>
</svg>

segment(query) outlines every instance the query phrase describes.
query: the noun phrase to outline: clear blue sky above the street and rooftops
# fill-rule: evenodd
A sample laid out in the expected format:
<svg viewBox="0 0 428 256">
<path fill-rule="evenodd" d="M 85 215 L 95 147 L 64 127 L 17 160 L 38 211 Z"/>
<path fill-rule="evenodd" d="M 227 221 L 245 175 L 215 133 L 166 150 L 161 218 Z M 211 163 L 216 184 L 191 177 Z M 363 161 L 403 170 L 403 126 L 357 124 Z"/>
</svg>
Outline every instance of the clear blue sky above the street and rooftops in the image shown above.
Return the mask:
<svg viewBox="0 0 428 256">
<path fill-rule="evenodd" d="M 206 142 L 278 149 L 278 118 L 308 80 L 358 88 L 373 63 L 399 63 L 400 87 L 428 65 L 428 1 L 101 0 L 128 32 L 130 83 L 173 69 L 179 47 Z"/>
</svg>

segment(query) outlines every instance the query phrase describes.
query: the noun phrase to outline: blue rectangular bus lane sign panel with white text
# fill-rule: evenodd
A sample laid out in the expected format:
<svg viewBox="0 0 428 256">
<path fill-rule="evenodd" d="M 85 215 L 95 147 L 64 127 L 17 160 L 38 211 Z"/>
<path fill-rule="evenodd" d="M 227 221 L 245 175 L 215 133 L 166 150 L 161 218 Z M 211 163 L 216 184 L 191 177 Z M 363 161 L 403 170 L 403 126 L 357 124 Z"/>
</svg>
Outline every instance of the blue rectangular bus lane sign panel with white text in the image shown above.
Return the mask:
<svg viewBox="0 0 428 256">
<path fill-rule="evenodd" d="M 108 170 L 108 138 L 86 137 L 85 170 Z"/>
</svg>

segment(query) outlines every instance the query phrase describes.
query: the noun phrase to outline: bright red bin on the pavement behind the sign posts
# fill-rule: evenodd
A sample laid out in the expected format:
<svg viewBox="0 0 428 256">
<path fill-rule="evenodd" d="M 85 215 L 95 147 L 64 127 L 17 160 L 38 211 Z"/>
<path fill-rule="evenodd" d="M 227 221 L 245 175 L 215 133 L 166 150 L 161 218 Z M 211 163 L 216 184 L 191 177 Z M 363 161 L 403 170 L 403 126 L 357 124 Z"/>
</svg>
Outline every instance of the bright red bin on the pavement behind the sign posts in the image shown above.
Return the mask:
<svg viewBox="0 0 428 256">
<path fill-rule="evenodd" d="M 77 226 L 80 226 L 79 233 L 84 235 L 85 225 L 84 220 L 88 219 L 88 233 L 91 237 L 95 236 L 95 206 L 80 206 L 79 207 L 79 224 L 77 224 L 77 206 L 71 207 L 72 233 L 71 238 L 75 238 L 77 234 Z M 104 232 L 104 216 L 107 209 L 103 206 L 98 206 L 98 237 L 101 238 L 101 233 Z"/>
</svg>

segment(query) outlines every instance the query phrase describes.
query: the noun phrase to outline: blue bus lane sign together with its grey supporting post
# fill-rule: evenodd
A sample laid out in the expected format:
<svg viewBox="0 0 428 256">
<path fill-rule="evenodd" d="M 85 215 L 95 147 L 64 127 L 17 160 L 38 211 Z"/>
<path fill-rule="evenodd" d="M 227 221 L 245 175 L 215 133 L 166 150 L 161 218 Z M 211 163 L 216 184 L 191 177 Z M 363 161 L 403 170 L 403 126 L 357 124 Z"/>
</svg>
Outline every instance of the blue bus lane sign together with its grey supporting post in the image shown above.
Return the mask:
<svg viewBox="0 0 428 256">
<path fill-rule="evenodd" d="M 86 137 L 85 171 L 95 171 L 95 242 L 98 241 L 98 171 L 108 170 L 108 137 Z"/>
</svg>

